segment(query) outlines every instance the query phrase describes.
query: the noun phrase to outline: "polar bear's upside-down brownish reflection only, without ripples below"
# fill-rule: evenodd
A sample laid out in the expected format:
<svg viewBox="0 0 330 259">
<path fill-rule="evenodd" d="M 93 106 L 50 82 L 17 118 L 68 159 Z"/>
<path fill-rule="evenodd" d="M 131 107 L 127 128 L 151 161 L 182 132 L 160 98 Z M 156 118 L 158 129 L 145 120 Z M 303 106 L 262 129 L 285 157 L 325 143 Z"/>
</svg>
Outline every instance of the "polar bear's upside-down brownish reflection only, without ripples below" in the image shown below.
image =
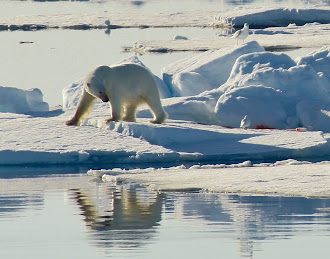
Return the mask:
<svg viewBox="0 0 330 259">
<path fill-rule="evenodd" d="M 70 190 L 91 230 L 150 229 L 161 220 L 164 195 L 135 185 L 101 186 L 98 193 Z"/>
</svg>

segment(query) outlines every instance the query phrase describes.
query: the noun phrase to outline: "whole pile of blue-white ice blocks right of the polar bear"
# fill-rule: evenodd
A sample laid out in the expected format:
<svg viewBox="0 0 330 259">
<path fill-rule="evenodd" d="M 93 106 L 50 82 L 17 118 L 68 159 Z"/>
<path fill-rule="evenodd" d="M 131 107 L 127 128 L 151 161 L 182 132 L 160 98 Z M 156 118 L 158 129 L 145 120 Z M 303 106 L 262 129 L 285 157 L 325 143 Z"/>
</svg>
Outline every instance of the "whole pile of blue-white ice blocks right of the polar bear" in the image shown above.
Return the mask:
<svg viewBox="0 0 330 259">
<path fill-rule="evenodd" d="M 298 58 L 298 64 L 260 50 L 249 42 L 169 65 L 163 77 L 173 92 L 202 92 L 163 100 L 169 117 L 237 128 L 247 116 L 250 128 L 330 132 L 329 47 Z"/>
</svg>

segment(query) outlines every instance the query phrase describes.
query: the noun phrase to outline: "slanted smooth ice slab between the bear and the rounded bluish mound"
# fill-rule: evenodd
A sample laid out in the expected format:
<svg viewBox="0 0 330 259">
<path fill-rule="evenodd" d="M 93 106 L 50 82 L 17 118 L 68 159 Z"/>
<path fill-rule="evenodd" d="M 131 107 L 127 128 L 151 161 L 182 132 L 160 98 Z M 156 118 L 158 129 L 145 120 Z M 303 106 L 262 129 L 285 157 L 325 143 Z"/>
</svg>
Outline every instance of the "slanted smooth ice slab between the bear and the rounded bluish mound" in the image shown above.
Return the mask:
<svg viewBox="0 0 330 259">
<path fill-rule="evenodd" d="M 162 77 L 172 96 L 197 95 L 225 83 L 238 57 L 261 51 L 264 48 L 256 41 L 240 47 L 206 51 L 163 68 Z"/>
</svg>

